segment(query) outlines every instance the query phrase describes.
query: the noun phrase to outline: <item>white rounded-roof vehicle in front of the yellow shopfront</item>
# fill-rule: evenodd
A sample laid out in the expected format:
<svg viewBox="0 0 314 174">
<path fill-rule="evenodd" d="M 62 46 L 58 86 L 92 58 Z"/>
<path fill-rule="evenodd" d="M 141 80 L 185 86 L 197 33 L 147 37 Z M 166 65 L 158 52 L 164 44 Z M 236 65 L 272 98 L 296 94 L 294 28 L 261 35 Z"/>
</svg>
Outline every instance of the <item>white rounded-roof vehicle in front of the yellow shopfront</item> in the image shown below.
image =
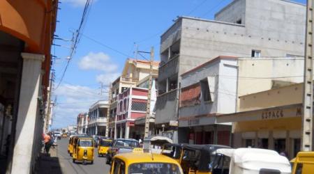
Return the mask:
<svg viewBox="0 0 314 174">
<path fill-rule="evenodd" d="M 209 166 L 212 174 L 290 174 L 291 166 L 286 157 L 274 150 L 238 148 L 216 150 Z"/>
</svg>

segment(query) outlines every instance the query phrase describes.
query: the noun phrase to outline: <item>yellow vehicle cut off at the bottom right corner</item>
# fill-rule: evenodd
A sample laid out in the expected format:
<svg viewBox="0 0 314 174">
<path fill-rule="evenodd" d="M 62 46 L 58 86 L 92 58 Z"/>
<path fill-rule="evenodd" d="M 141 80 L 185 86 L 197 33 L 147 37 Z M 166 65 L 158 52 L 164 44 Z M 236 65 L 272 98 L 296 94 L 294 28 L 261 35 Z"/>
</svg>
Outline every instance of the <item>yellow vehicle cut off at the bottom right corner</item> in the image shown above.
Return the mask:
<svg viewBox="0 0 314 174">
<path fill-rule="evenodd" d="M 314 152 L 299 152 L 290 162 L 293 163 L 292 174 L 314 173 Z"/>
</svg>

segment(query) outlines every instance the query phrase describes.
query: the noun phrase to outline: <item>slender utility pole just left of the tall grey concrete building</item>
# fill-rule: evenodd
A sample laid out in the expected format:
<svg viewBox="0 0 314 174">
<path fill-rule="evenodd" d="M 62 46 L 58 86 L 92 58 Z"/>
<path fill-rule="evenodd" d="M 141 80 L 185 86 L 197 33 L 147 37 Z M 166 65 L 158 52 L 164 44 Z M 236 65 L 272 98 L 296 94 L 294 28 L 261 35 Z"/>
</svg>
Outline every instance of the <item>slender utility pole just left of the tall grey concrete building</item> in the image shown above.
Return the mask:
<svg viewBox="0 0 314 174">
<path fill-rule="evenodd" d="M 149 89 L 147 95 L 147 108 L 145 118 L 145 132 L 144 138 L 149 136 L 149 120 L 151 118 L 151 87 L 153 85 L 153 62 L 154 62 L 154 47 L 151 47 L 151 60 L 149 61 Z"/>
</svg>

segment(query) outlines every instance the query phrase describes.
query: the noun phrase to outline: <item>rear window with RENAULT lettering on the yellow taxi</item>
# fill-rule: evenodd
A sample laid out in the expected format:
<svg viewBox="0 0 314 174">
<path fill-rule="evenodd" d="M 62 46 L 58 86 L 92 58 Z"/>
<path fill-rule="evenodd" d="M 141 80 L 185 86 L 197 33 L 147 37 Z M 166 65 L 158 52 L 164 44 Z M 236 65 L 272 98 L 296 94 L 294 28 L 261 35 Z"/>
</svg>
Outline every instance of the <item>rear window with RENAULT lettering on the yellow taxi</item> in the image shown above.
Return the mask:
<svg viewBox="0 0 314 174">
<path fill-rule="evenodd" d="M 180 174 L 177 164 L 170 163 L 137 163 L 128 167 L 129 174 L 151 174 L 151 173 L 167 173 Z"/>
</svg>

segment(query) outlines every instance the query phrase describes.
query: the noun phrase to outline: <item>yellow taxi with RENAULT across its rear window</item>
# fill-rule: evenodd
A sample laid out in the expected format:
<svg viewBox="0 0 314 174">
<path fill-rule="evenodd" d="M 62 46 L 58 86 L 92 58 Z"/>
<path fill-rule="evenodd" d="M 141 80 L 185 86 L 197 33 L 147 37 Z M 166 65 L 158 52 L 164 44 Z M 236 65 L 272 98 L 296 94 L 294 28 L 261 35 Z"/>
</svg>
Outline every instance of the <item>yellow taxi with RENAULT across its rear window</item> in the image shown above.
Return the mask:
<svg viewBox="0 0 314 174">
<path fill-rule="evenodd" d="M 165 155 L 130 152 L 114 155 L 110 174 L 167 173 L 183 174 L 179 163 Z"/>
</svg>

